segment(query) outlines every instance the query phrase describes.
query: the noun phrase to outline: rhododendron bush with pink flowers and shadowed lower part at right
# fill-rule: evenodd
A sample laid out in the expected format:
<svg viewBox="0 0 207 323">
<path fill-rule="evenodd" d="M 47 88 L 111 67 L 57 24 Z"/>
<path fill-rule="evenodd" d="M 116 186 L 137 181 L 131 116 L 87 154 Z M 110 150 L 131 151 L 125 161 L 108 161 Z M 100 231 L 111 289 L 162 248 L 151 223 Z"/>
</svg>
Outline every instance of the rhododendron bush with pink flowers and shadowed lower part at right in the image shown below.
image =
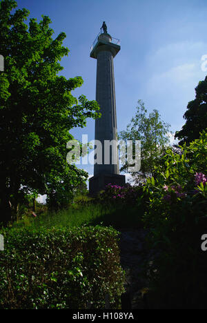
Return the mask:
<svg viewBox="0 0 207 323">
<path fill-rule="evenodd" d="M 163 163 L 148 179 L 150 248 L 157 248 L 151 273 L 152 304 L 163 309 L 206 309 L 206 255 L 201 235 L 207 232 L 207 133 L 166 151 Z M 204 173 L 203 173 L 204 172 Z"/>
</svg>

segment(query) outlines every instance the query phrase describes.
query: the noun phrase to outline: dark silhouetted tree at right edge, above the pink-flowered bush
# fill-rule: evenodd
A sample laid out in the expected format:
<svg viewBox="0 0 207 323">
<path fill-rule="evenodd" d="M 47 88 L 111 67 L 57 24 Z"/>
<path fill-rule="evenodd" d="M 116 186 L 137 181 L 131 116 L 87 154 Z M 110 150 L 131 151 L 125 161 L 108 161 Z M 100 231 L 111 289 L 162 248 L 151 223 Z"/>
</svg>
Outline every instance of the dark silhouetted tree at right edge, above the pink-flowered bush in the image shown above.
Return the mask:
<svg viewBox="0 0 207 323">
<path fill-rule="evenodd" d="M 186 124 L 181 130 L 175 133 L 179 145 L 190 144 L 191 141 L 198 139 L 202 130 L 207 128 L 207 77 L 204 81 L 199 81 L 195 88 L 195 99 L 188 102 L 187 110 L 184 114 Z"/>
</svg>

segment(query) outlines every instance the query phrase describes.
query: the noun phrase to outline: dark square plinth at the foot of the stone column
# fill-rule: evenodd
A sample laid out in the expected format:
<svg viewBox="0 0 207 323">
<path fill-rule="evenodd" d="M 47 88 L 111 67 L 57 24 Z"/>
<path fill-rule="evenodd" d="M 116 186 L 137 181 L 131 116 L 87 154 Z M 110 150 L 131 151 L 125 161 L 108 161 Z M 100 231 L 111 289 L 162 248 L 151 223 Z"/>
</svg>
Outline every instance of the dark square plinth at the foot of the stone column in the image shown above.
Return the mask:
<svg viewBox="0 0 207 323">
<path fill-rule="evenodd" d="M 99 174 L 89 179 L 89 194 L 96 195 L 100 190 L 104 190 L 107 184 L 125 185 L 125 175 L 119 174 Z"/>
</svg>

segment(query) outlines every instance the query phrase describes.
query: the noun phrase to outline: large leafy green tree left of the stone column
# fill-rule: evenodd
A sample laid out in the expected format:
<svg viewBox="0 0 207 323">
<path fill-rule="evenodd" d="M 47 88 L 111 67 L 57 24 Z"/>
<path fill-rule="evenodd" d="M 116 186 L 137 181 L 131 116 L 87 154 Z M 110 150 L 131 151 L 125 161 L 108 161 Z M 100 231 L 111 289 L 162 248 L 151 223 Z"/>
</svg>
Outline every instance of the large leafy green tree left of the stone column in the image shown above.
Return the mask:
<svg viewBox="0 0 207 323">
<path fill-rule="evenodd" d="M 71 91 L 83 84 L 81 77 L 66 79 L 57 73 L 68 55 L 66 35 L 52 39 L 51 21 L 42 16 L 24 22 L 28 10 L 16 10 L 14 0 L 0 8 L 0 53 L 5 70 L 0 74 L 0 222 L 10 219 L 11 208 L 28 193 L 70 196 L 88 174 L 68 165 L 69 130 L 86 126 L 88 117 L 99 117 L 96 101 L 79 99 Z M 61 195 L 61 196 L 62 196 Z"/>
</svg>

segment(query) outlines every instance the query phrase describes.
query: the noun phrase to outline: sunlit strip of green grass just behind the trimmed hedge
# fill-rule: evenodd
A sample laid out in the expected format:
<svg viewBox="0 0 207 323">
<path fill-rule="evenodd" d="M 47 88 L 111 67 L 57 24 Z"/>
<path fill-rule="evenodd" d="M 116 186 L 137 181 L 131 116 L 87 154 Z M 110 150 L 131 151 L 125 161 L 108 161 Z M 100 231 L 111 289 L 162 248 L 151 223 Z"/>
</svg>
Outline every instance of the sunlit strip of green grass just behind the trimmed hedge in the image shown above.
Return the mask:
<svg viewBox="0 0 207 323">
<path fill-rule="evenodd" d="M 120 204 L 86 204 L 83 206 L 70 206 L 68 209 L 58 211 L 57 213 L 45 212 L 32 217 L 26 215 L 23 219 L 17 221 L 12 226 L 16 228 L 30 227 L 38 228 L 62 228 L 75 227 L 82 225 L 95 226 L 113 226 L 114 228 L 135 228 L 141 226 L 141 209 L 137 206 L 124 206 Z"/>
</svg>

